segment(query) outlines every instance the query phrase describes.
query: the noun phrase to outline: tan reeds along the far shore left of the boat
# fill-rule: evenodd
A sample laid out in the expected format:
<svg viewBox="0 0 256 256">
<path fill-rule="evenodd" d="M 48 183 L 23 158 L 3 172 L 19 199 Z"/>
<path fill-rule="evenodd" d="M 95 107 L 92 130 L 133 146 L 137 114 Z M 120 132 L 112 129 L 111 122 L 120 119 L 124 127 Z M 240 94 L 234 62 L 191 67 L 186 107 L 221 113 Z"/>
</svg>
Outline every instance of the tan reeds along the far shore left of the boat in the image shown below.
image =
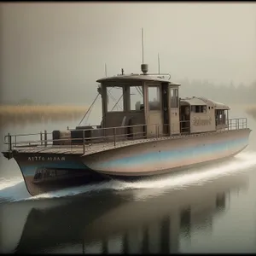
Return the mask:
<svg viewBox="0 0 256 256">
<path fill-rule="evenodd" d="M 0 125 L 34 123 L 52 119 L 78 119 L 83 117 L 87 109 L 84 106 L 2 105 L 0 106 Z"/>
</svg>

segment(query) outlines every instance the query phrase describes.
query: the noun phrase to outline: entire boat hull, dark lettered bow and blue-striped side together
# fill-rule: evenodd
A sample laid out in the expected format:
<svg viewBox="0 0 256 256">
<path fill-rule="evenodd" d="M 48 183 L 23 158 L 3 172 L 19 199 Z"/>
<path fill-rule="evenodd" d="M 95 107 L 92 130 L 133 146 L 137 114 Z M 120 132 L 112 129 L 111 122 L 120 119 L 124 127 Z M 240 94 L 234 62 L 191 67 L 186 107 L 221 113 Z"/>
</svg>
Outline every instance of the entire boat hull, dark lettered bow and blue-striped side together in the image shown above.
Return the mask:
<svg viewBox="0 0 256 256">
<path fill-rule="evenodd" d="M 113 178 L 134 179 L 220 160 L 247 147 L 250 129 L 145 140 L 94 154 L 13 154 L 31 195 Z"/>
</svg>

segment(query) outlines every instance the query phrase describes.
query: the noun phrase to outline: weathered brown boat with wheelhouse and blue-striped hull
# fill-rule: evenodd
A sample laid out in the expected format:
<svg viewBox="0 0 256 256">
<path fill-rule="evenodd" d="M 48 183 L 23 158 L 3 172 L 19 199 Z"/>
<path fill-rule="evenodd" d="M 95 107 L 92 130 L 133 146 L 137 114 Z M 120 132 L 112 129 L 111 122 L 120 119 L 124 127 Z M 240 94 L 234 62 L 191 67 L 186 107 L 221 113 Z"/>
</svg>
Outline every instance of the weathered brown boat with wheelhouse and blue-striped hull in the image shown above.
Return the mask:
<svg viewBox="0 0 256 256">
<path fill-rule="evenodd" d="M 230 119 L 229 106 L 205 97 L 179 97 L 181 84 L 170 74 L 148 73 L 147 64 L 141 71 L 125 74 L 122 69 L 96 81 L 100 125 L 4 137 L 9 148 L 3 155 L 16 160 L 31 195 L 82 181 L 154 177 L 225 159 L 247 147 L 246 118 Z M 109 107 L 112 89 L 121 92 L 122 103 L 114 105 L 121 105 L 118 110 Z M 132 103 L 132 90 L 141 101 Z"/>
</svg>

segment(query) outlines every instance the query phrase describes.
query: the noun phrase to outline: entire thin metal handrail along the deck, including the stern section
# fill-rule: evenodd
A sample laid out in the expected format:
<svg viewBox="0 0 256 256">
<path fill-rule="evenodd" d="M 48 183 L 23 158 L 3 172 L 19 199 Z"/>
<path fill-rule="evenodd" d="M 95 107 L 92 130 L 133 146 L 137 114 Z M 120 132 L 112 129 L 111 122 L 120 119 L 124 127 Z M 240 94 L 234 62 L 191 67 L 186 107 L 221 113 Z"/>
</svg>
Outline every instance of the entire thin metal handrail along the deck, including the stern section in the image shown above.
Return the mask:
<svg viewBox="0 0 256 256">
<path fill-rule="evenodd" d="M 189 122 L 188 120 L 180 121 L 180 123 L 185 123 Z M 151 136 L 147 136 L 147 130 L 139 130 L 139 131 L 126 131 L 123 132 L 121 131 L 120 133 L 118 132 L 121 129 L 126 129 L 126 128 L 131 128 L 131 127 L 148 127 L 148 126 L 154 126 L 155 129 L 153 130 L 153 134 Z M 168 125 L 168 124 L 165 124 Z M 246 129 L 247 128 L 247 118 L 236 118 L 236 119 L 226 119 L 222 128 L 220 127 L 220 130 L 240 130 L 240 129 Z M 167 126 L 168 127 L 168 126 Z M 185 132 L 185 130 L 189 130 L 189 127 L 181 127 L 180 135 L 183 133 L 188 133 Z M 130 139 L 139 139 L 139 138 L 145 138 L 145 137 L 162 137 L 166 136 L 169 132 L 166 133 L 165 129 L 163 132 L 160 133 L 160 125 L 159 124 L 148 124 L 148 125 L 125 125 L 125 126 L 113 126 L 113 127 L 107 127 L 107 128 L 96 128 L 96 129 L 70 129 L 69 131 L 80 131 L 82 133 L 81 137 L 64 137 L 60 139 L 53 139 L 53 138 L 48 138 L 48 135 L 52 137 L 52 132 L 47 132 L 44 130 L 44 132 L 39 132 L 39 133 L 30 133 L 30 134 L 15 134 L 11 135 L 8 134 L 7 136 L 4 136 L 4 144 L 9 145 L 9 151 L 11 151 L 13 148 L 19 148 L 19 147 L 32 147 L 32 146 L 42 146 L 42 147 L 47 147 L 48 145 L 50 146 L 55 146 L 54 142 L 63 142 L 65 143 L 63 146 L 67 147 L 70 145 L 70 147 L 78 146 L 78 145 L 83 145 L 84 152 L 85 152 L 85 146 L 90 146 L 92 143 L 113 143 L 113 146 L 116 146 L 117 143 L 123 142 L 126 140 Z M 111 131 L 110 133 L 102 132 L 98 133 L 99 136 L 93 136 L 92 137 L 85 137 L 85 132 L 86 131 Z M 169 130 L 168 130 L 169 131 Z M 18 140 L 18 137 L 26 137 L 26 136 L 40 136 L 39 140 L 34 139 L 34 140 Z M 8 137 L 8 141 L 6 138 Z M 14 138 L 14 139 L 13 139 Z M 20 145 L 24 146 L 20 146 Z M 61 144 L 57 144 L 58 147 L 61 147 Z"/>
</svg>

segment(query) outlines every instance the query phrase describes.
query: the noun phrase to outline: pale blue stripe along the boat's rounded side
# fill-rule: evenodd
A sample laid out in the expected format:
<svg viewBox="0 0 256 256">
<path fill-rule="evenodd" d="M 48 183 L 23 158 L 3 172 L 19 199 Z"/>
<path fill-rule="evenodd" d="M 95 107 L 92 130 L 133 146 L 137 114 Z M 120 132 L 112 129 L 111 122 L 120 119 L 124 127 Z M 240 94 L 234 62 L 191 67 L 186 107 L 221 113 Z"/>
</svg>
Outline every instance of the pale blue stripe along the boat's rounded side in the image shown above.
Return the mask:
<svg viewBox="0 0 256 256">
<path fill-rule="evenodd" d="M 132 156 L 123 157 L 118 160 L 108 160 L 93 164 L 91 167 L 95 170 L 106 170 L 131 168 L 136 169 L 143 165 L 154 165 L 160 162 L 180 162 L 185 160 L 200 160 L 206 159 L 214 154 L 228 154 L 229 152 L 239 151 L 244 148 L 248 143 L 248 138 L 241 138 L 236 140 L 226 141 L 224 143 L 212 143 L 212 144 L 201 144 L 198 147 L 184 148 L 180 150 L 160 151 L 148 153 L 148 154 L 137 154 Z M 235 152 L 234 152 L 235 153 Z M 132 154 L 132 152 L 131 152 Z M 100 161 L 100 160 L 99 160 Z"/>
</svg>

